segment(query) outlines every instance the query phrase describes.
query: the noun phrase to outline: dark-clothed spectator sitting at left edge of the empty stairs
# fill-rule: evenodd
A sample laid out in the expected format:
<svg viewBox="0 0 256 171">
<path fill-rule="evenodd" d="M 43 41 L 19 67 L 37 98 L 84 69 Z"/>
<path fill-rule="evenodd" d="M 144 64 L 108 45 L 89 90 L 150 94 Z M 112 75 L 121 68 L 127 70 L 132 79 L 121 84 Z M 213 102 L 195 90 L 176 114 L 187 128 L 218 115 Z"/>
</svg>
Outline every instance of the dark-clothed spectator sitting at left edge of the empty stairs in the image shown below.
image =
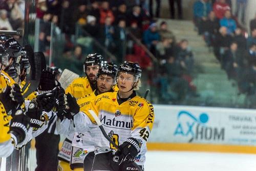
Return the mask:
<svg viewBox="0 0 256 171">
<path fill-rule="evenodd" d="M 186 39 L 181 40 L 176 59 L 180 61 L 181 66 L 187 75 L 192 73 L 194 67 L 194 56 L 188 47 L 188 41 Z"/>
</svg>

